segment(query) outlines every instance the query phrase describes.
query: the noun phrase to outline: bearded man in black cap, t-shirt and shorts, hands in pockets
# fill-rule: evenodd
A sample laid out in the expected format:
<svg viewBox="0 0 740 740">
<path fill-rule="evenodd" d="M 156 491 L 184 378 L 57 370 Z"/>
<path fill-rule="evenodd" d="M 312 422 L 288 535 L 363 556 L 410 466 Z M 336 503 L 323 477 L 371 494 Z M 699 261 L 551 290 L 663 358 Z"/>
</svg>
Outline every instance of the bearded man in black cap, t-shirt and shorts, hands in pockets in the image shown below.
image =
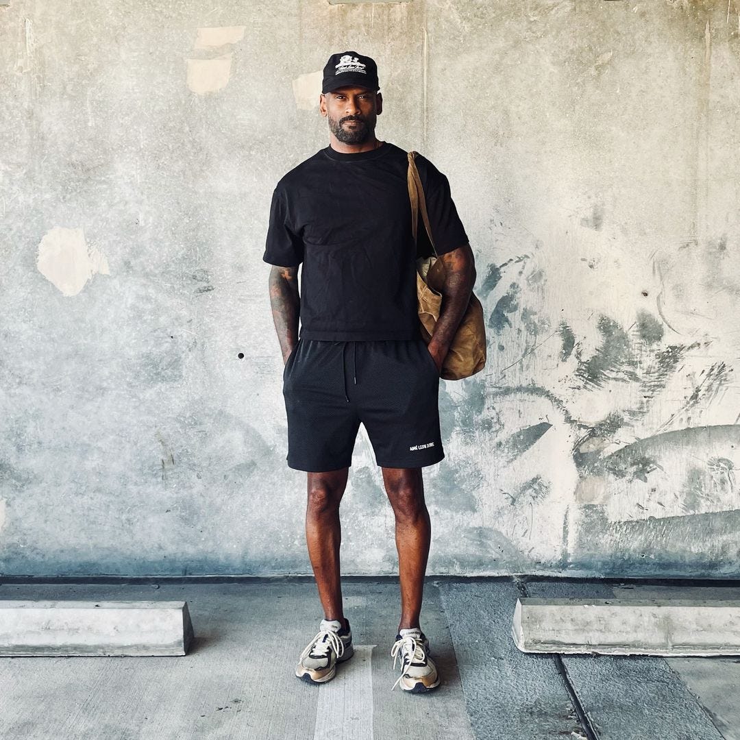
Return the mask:
<svg viewBox="0 0 740 740">
<path fill-rule="evenodd" d="M 394 687 L 420 693 L 440 685 L 420 627 L 431 534 L 421 468 L 445 457 L 440 371 L 476 272 L 447 178 L 417 157 L 446 269 L 440 319 L 427 346 L 417 314 L 408 159 L 375 138 L 379 89 L 371 58 L 354 51 L 329 58 L 320 95 L 329 147 L 277 184 L 263 259 L 273 265 L 269 291 L 285 363 L 287 462 L 308 473 L 306 542 L 325 617 L 296 676 L 329 681 L 337 662 L 352 655 L 339 506 L 363 423 L 396 520 L 401 617 L 391 656 L 394 667 L 400 658 L 401 675 Z"/>
</svg>

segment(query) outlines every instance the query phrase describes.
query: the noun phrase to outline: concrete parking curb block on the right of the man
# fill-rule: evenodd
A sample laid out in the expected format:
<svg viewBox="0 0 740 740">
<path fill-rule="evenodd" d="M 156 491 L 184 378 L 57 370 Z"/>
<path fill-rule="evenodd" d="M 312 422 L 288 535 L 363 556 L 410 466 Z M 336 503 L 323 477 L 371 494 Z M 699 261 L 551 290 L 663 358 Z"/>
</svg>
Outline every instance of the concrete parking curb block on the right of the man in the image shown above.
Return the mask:
<svg viewBox="0 0 740 740">
<path fill-rule="evenodd" d="M 523 653 L 740 655 L 740 601 L 517 599 Z"/>
</svg>

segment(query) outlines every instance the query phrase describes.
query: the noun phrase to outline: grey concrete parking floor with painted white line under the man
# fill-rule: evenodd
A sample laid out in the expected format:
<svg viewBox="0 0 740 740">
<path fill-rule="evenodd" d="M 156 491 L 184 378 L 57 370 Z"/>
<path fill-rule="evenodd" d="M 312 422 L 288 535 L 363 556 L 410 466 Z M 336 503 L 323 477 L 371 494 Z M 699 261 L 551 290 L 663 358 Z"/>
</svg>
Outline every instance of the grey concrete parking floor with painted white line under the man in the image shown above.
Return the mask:
<svg viewBox="0 0 740 740">
<path fill-rule="evenodd" d="M 323 686 L 293 675 L 323 614 L 303 581 L 0 583 L 0 599 L 181 599 L 195 644 L 163 658 L 0 658 L 2 740 L 740 740 L 740 658 L 536 656 L 518 596 L 738 599 L 726 586 L 428 579 L 422 627 L 443 684 L 391 692 L 397 583 L 346 579 L 355 656 Z"/>
</svg>

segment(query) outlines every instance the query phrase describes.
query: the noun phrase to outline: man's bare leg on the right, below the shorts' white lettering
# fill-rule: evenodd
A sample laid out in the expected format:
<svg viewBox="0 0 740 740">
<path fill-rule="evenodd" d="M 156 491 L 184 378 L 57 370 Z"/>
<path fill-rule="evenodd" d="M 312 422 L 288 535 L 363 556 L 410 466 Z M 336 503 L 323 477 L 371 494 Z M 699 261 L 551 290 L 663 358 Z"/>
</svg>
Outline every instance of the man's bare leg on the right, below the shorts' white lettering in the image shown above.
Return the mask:
<svg viewBox="0 0 740 740">
<path fill-rule="evenodd" d="M 381 468 L 396 517 L 396 548 L 401 588 L 399 630 L 420 627 L 431 522 L 424 501 L 421 468 Z"/>
</svg>

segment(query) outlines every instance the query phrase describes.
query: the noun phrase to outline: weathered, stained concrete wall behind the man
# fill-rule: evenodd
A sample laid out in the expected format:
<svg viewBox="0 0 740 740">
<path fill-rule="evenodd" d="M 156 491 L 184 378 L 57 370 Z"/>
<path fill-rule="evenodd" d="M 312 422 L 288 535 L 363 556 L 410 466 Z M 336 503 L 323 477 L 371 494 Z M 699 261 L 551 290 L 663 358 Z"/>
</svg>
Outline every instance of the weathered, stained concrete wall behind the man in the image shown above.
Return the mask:
<svg viewBox="0 0 740 740">
<path fill-rule="evenodd" d="M 0 572 L 310 573 L 261 255 L 354 48 L 488 317 L 429 571 L 739 576 L 739 33 L 738 0 L 0 7 Z M 344 571 L 392 533 L 361 430 Z"/>
</svg>

